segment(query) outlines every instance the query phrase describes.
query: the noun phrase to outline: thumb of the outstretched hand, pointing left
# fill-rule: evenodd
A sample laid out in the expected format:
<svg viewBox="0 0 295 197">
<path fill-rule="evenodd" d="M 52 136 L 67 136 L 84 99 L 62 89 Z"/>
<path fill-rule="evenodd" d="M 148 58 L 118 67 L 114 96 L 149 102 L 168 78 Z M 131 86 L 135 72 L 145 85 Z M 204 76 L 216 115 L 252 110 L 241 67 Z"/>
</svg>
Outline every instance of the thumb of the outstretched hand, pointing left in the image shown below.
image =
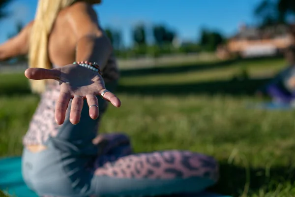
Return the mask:
<svg viewBox="0 0 295 197">
<path fill-rule="evenodd" d="M 41 79 L 59 79 L 61 72 L 57 68 L 45 69 L 45 68 L 28 68 L 25 71 L 25 76 L 29 79 L 41 80 Z"/>
</svg>

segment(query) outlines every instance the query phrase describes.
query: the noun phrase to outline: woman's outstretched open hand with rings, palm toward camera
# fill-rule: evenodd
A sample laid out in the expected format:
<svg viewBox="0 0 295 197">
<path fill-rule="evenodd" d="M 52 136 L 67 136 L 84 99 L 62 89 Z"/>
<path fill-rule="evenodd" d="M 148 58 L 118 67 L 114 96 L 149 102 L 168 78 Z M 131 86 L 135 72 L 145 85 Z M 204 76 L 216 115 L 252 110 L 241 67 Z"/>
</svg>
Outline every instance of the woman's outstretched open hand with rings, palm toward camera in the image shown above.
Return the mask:
<svg viewBox="0 0 295 197">
<path fill-rule="evenodd" d="M 55 119 L 59 125 L 64 122 L 70 99 L 73 99 L 70 112 L 70 122 L 72 124 L 78 124 L 80 121 L 83 99 L 87 99 L 90 118 L 98 118 L 99 111 L 96 95 L 101 95 L 106 88 L 101 75 L 97 72 L 83 66 L 71 64 L 53 69 L 28 68 L 25 75 L 33 80 L 55 79 L 59 81 L 60 94 L 55 111 Z M 105 92 L 103 99 L 111 102 L 116 107 L 121 105 L 121 101 L 111 92 Z"/>
</svg>

